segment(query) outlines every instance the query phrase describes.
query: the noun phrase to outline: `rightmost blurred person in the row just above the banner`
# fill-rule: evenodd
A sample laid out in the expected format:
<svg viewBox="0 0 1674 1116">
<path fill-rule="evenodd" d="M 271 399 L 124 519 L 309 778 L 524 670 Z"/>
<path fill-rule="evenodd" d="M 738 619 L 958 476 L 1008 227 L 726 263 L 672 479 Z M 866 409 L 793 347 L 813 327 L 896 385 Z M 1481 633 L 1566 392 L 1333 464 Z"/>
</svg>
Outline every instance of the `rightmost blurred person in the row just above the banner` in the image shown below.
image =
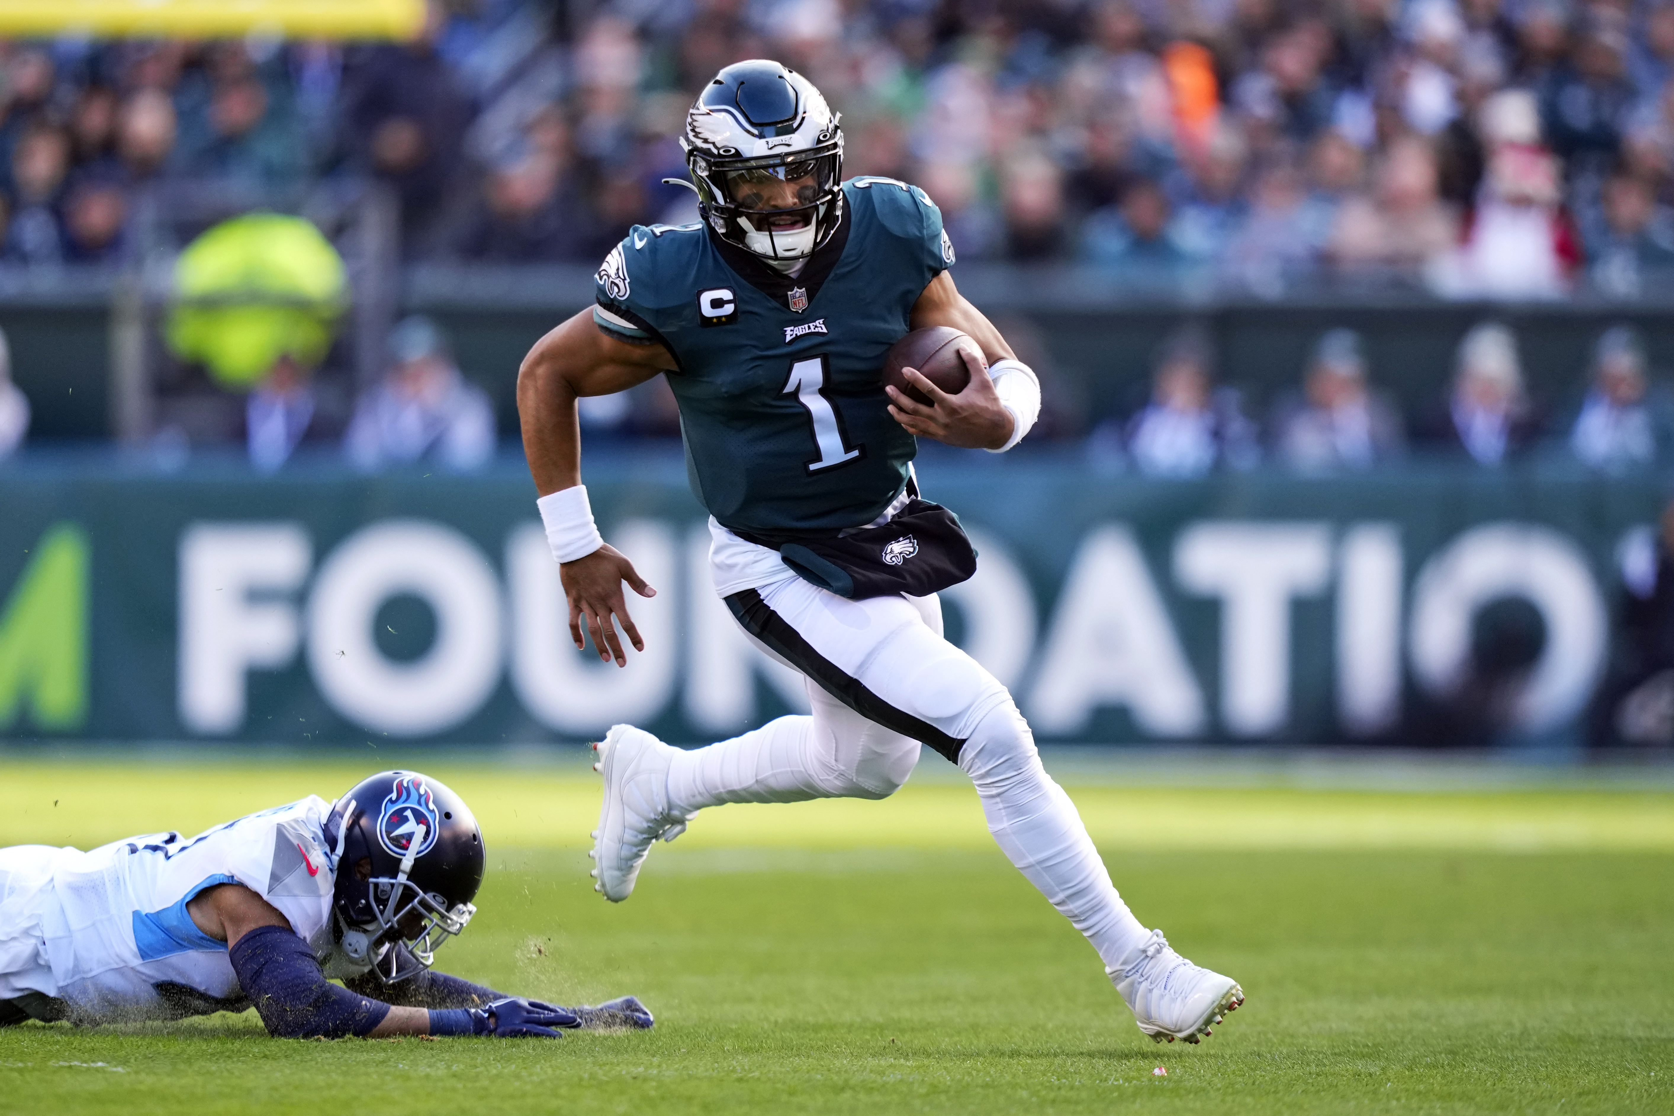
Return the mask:
<svg viewBox="0 0 1674 1116">
<path fill-rule="evenodd" d="M 1664 415 L 1647 400 L 1646 350 L 1632 326 L 1610 326 L 1592 350 L 1592 387 L 1570 430 L 1570 450 L 1592 468 L 1619 474 L 1657 458 Z"/>
</svg>

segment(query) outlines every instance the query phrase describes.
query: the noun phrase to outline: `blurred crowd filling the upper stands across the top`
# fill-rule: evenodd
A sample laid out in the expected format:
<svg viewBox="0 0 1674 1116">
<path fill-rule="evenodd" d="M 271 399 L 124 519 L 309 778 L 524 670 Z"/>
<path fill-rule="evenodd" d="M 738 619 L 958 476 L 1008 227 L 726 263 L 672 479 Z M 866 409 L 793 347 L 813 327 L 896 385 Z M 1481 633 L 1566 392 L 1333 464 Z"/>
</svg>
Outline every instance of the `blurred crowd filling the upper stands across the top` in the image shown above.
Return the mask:
<svg viewBox="0 0 1674 1116">
<path fill-rule="evenodd" d="M 0 47 L 3 256 L 110 261 L 139 199 L 385 182 L 410 258 L 594 261 L 690 219 L 678 132 L 775 57 L 847 172 L 963 259 L 1282 294 L 1639 294 L 1674 269 L 1674 0 L 437 0 L 400 45 Z"/>
</svg>

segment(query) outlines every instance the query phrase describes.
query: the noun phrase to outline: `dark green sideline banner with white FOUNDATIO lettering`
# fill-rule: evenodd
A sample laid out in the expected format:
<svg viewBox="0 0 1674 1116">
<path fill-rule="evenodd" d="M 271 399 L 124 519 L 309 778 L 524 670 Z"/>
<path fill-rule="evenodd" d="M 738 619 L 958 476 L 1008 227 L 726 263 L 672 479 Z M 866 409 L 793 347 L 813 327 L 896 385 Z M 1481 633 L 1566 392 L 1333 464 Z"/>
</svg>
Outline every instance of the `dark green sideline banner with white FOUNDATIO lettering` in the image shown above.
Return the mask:
<svg viewBox="0 0 1674 1116">
<path fill-rule="evenodd" d="M 0 738 L 701 743 L 805 708 L 708 582 L 663 465 L 589 467 L 658 587 L 629 666 L 569 644 L 521 468 L 0 484 Z M 1579 740 L 1654 477 L 1420 465 L 1200 482 L 924 462 L 978 576 L 947 631 L 1061 741 Z"/>
</svg>

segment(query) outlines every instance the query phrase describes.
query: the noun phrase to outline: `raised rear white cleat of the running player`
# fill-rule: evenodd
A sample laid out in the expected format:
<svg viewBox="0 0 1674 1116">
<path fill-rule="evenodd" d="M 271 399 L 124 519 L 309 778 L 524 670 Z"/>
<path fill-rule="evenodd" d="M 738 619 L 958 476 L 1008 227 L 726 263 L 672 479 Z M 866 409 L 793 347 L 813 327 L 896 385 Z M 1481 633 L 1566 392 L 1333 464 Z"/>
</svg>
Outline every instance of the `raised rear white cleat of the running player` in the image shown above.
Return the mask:
<svg viewBox="0 0 1674 1116">
<path fill-rule="evenodd" d="M 604 805 L 588 853 L 598 862 L 593 890 L 619 904 L 633 895 L 651 842 L 675 840 L 691 818 L 668 811 L 668 765 L 676 748 L 633 724 L 616 724 L 593 750 L 599 755 L 593 770 L 604 775 Z"/>
</svg>

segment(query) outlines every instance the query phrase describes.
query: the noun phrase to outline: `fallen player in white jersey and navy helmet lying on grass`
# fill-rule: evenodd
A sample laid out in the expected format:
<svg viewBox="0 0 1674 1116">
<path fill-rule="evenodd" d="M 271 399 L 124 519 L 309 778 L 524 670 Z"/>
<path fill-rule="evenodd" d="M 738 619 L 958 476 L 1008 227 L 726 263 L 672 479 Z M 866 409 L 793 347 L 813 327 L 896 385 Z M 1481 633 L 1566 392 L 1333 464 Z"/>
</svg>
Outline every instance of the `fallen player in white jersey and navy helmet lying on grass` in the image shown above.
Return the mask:
<svg viewBox="0 0 1674 1116">
<path fill-rule="evenodd" d="M 434 972 L 484 863 L 465 803 L 413 771 L 193 838 L 0 848 L 0 1027 L 248 1007 L 288 1039 L 651 1026 L 631 996 L 554 1007 Z"/>
</svg>

